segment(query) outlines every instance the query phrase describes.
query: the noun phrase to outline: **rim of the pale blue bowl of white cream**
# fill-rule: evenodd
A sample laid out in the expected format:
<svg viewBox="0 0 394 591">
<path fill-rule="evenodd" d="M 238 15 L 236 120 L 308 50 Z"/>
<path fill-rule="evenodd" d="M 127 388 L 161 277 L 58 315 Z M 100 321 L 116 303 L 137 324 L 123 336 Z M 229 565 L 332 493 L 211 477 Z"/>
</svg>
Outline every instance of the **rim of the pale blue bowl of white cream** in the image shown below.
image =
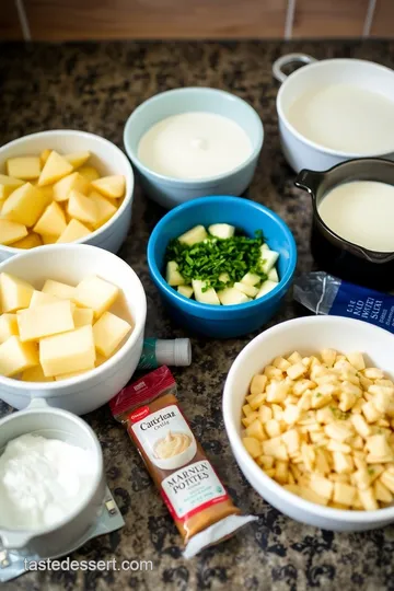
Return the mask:
<svg viewBox="0 0 394 591">
<path fill-rule="evenodd" d="M 232 101 L 242 103 L 251 112 L 252 117 L 254 117 L 255 119 L 256 129 L 258 130 L 258 139 L 252 153 L 248 155 L 246 160 L 244 160 L 244 162 L 242 162 L 241 164 L 239 164 L 234 169 L 231 169 L 228 172 L 212 175 L 212 176 L 207 176 L 205 178 L 176 178 L 174 176 L 167 176 L 165 174 L 154 172 L 152 169 L 149 169 L 149 166 L 147 166 L 146 164 L 141 162 L 141 160 L 138 158 L 138 153 L 136 152 L 136 150 L 134 150 L 130 147 L 129 140 L 128 140 L 128 138 L 132 135 L 132 124 L 135 123 L 135 120 L 138 117 L 143 117 L 142 112 L 147 107 L 147 105 L 160 103 L 164 95 L 171 96 L 174 94 L 188 94 L 188 93 L 212 94 L 223 100 L 232 100 Z M 207 112 L 207 113 L 210 113 L 210 112 Z M 160 120 L 163 120 L 163 119 L 159 119 L 157 123 L 159 123 Z M 240 127 L 242 126 L 240 125 Z M 220 181 L 223 181 L 224 178 L 228 178 L 229 176 L 239 173 L 241 170 L 248 166 L 253 162 L 253 160 L 258 157 L 259 152 L 262 151 L 263 142 L 264 142 L 264 125 L 257 111 L 253 108 L 253 106 L 250 105 L 250 103 L 247 103 L 244 99 L 241 99 L 241 96 L 237 96 L 236 94 L 233 94 L 228 91 L 223 91 L 221 89 L 213 89 L 210 86 L 185 86 L 182 89 L 172 89 L 164 92 L 160 92 L 158 94 L 154 94 L 153 96 L 150 96 L 149 99 L 143 101 L 143 103 L 138 105 L 138 107 L 134 109 L 131 115 L 129 115 L 125 124 L 123 139 L 124 139 L 124 146 L 125 146 L 127 155 L 129 157 L 131 162 L 138 167 L 138 170 L 143 172 L 144 175 L 150 175 L 157 181 L 160 181 L 162 184 L 165 184 L 165 185 L 177 185 L 177 186 L 185 186 L 185 187 L 189 187 L 194 185 L 198 187 L 206 187 L 208 185 L 219 183 Z"/>
</svg>

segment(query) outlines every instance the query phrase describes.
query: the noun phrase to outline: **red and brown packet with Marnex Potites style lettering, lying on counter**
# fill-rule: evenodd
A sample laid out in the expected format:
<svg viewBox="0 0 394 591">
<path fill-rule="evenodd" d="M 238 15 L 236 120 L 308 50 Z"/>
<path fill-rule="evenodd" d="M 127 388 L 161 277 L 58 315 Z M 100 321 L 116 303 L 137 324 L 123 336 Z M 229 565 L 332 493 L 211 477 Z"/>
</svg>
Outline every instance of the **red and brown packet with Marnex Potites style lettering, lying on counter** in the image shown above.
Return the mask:
<svg viewBox="0 0 394 591">
<path fill-rule="evenodd" d="M 241 515 L 176 399 L 166 366 L 125 387 L 109 403 L 141 454 L 186 545 L 185 558 L 257 518 Z"/>
</svg>

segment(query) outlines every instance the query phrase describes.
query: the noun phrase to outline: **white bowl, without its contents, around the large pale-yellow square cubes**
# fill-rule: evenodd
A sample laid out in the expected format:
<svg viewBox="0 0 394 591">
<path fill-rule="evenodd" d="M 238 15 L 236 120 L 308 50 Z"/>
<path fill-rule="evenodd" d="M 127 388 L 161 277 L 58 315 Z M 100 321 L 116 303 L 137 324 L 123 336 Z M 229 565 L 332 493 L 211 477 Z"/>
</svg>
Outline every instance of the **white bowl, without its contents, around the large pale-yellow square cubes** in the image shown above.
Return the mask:
<svg viewBox="0 0 394 591">
<path fill-rule="evenodd" d="M 59 382 L 22 382 L 0 375 L 0 397 L 15 408 L 24 408 L 31 398 L 38 397 L 45 398 L 50 406 L 83 415 L 107 403 L 127 384 L 142 351 L 147 299 L 131 267 L 95 246 L 55 244 L 9 258 L 0 265 L 2 271 L 21 277 L 37 289 L 45 279 L 77 285 L 88 275 L 97 275 L 120 288 L 121 305 L 129 313 L 134 328 L 123 347 L 105 363 Z"/>
</svg>

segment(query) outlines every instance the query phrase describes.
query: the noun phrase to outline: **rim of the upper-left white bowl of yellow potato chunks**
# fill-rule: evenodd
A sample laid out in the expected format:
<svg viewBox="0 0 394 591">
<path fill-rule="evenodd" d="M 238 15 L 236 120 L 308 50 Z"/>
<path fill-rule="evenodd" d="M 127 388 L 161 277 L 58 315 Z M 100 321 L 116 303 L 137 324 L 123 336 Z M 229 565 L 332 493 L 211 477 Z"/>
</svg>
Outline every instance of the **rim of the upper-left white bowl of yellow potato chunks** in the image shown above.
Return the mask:
<svg viewBox="0 0 394 591">
<path fill-rule="evenodd" d="M 103 138 L 102 136 L 97 136 L 96 134 L 91 134 L 89 131 L 80 131 L 78 129 L 49 129 L 49 130 L 46 130 L 46 131 L 36 131 L 35 134 L 27 134 L 26 136 L 22 136 L 21 138 L 16 138 L 12 141 L 9 141 L 8 143 L 4 143 L 3 146 L 0 147 L 0 158 L 4 154 L 4 152 L 7 153 L 7 150 L 9 148 L 12 148 L 13 146 L 19 146 L 19 144 L 22 144 L 24 142 L 25 139 L 28 139 L 28 138 L 38 138 L 38 137 L 43 137 L 43 136 L 57 136 L 57 135 L 63 135 L 63 136 L 83 136 L 88 139 L 93 139 L 94 140 L 99 140 L 101 141 L 104 146 L 107 146 L 108 148 L 111 148 L 112 150 L 114 150 L 115 152 L 115 155 L 116 155 L 116 159 L 120 159 L 120 160 L 124 160 L 124 163 L 127 167 L 127 175 L 126 176 L 126 194 L 125 194 L 125 197 L 120 204 L 120 206 L 117 208 L 116 212 L 114 213 L 114 216 L 112 218 L 109 218 L 108 221 L 106 221 L 105 223 L 103 223 L 103 225 L 101 225 L 100 228 L 97 228 L 97 230 L 94 230 L 93 232 L 91 232 L 90 234 L 88 234 L 88 236 L 83 236 L 82 239 L 78 239 L 78 240 L 74 240 L 73 242 L 71 243 L 67 243 L 67 244 L 85 244 L 85 241 L 86 240 L 91 240 L 92 237 L 95 239 L 95 237 L 99 237 L 103 232 L 105 232 L 106 230 L 109 229 L 109 227 L 117 220 L 120 218 L 120 216 L 124 213 L 124 211 L 127 209 L 127 207 L 129 206 L 129 204 L 132 204 L 132 200 L 134 200 L 134 189 L 135 189 L 135 176 L 134 176 L 134 172 L 132 172 L 132 167 L 131 167 L 131 164 L 130 162 L 128 161 L 128 158 L 127 155 L 120 150 L 120 148 L 118 148 L 117 146 L 115 146 L 115 143 L 113 143 L 112 141 L 107 140 L 106 138 Z M 93 152 L 92 152 L 93 153 Z M 77 171 L 78 172 L 78 169 Z M 127 188 L 127 184 L 129 184 L 129 188 Z M 55 243 L 56 244 L 56 243 Z M 65 243 L 66 244 L 66 243 Z M 53 246 L 53 244 L 43 244 L 40 246 L 35 246 L 35 248 L 44 248 L 44 247 L 47 247 L 47 246 Z M 24 252 L 25 248 L 15 248 L 13 246 L 7 246 L 5 244 L 0 244 L 0 252 L 4 252 L 4 253 L 8 253 L 10 256 L 13 256 L 13 255 L 18 255 L 18 254 L 22 254 Z M 32 248 L 33 250 L 33 248 Z"/>
</svg>

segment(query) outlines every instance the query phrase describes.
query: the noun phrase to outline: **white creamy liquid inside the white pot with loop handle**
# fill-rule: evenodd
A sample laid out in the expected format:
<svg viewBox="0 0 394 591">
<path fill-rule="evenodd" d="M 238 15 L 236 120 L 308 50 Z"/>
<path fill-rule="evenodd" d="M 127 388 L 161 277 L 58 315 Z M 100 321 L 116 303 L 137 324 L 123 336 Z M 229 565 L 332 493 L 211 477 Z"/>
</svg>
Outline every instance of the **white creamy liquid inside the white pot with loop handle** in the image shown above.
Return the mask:
<svg viewBox="0 0 394 591">
<path fill-rule="evenodd" d="M 289 107 L 289 123 L 315 143 L 341 152 L 389 153 L 394 146 L 394 101 L 351 84 L 310 90 Z"/>
</svg>

